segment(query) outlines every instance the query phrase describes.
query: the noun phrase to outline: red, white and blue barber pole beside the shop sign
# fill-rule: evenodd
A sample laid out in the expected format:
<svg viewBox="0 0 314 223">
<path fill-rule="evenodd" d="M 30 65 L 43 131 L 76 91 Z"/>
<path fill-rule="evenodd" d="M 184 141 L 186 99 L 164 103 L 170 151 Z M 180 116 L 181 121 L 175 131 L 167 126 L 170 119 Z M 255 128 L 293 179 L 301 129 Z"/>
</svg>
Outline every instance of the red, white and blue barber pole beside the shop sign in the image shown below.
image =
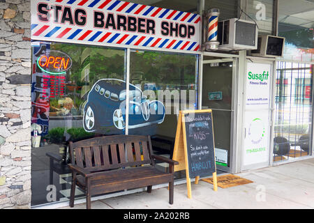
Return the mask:
<svg viewBox="0 0 314 223">
<path fill-rule="evenodd" d="M 205 43 L 207 50 L 217 50 L 220 44 L 217 41 L 218 36 L 218 17 L 219 9 L 212 8 L 208 11 L 208 29 L 207 29 L 207 42 Z"/>
</svg>

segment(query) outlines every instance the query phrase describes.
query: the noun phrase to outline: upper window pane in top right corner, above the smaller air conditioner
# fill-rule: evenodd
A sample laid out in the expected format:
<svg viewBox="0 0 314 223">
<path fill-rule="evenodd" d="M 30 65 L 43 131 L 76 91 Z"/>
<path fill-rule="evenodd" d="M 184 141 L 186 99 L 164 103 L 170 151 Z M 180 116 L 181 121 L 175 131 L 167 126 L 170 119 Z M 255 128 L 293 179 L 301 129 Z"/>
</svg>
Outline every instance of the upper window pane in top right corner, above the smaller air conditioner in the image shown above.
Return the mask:
<svg viewBox="0 0 314 223">
<path fill-rule="evenodd" d="M 313 1 L 279 1 L 278 36 L 285 37 L 283 59 L 314 61 Z"/>
</svg>

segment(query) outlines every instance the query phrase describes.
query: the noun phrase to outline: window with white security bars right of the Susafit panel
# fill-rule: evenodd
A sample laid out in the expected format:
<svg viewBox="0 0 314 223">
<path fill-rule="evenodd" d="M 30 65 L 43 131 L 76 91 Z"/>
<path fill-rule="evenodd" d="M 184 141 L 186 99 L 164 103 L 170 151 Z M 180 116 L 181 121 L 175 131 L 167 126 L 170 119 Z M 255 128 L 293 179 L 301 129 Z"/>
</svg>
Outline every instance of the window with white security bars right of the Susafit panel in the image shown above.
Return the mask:
<svg viewBox="0 0 314 223">
<path fill-rule="evenodd" d="M 274 162 L 312 153 L 312 73 L 310 64 L 277 62 Z"/>
</svg>

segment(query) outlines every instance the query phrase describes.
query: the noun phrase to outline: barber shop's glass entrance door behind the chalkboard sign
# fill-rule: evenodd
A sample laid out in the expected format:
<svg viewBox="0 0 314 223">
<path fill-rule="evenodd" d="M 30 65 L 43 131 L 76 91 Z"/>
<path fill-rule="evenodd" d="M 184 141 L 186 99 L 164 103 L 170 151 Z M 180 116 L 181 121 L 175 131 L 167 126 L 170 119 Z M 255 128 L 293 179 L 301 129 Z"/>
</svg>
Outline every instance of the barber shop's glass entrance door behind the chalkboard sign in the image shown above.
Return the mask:
<svg viewBox="0 0 314 223">
<path fill-rule="evenodd" d="M 229 171 L 233 153 L 236 59 L 204 56 L 202 109 L 212 109 L 217 169 Z"/>
</svg>

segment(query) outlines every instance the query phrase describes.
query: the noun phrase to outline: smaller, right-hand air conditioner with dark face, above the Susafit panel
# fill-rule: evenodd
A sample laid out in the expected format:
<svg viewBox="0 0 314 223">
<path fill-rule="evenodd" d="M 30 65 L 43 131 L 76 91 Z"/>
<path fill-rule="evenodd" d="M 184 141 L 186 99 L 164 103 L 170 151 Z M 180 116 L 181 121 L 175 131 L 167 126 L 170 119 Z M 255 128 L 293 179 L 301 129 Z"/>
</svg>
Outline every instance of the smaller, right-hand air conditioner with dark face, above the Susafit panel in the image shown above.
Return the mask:
<svg viewBox="0 0 314 223">
<path fill-rule="evenodd" d="M 252 56 L 281 57 L 285 38 L 279 36 L 262 35 L 258 36 L 257 49 L 251 50 Z"/>
</svg>

